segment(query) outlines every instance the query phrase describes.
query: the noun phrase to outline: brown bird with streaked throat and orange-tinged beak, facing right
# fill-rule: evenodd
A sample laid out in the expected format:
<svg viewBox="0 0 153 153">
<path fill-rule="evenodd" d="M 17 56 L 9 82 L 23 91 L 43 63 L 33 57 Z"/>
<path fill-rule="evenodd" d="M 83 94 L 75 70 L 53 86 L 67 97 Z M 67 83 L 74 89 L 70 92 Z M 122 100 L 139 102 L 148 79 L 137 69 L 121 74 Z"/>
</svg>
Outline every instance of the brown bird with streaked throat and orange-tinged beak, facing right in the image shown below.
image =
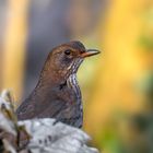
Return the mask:
<svg viewBox="0 0 153 153">
<path fill-rule="evenodd" d="M 86 57 L 99 52 L 96 49 L 86 49 L 79 40 L 55 47 L 45 61 L 36 87 L 17 107 L 17 119 L 55 118 L 69 126 L 82 128 L 82 94 L 76 72 Z"/>
</svg>

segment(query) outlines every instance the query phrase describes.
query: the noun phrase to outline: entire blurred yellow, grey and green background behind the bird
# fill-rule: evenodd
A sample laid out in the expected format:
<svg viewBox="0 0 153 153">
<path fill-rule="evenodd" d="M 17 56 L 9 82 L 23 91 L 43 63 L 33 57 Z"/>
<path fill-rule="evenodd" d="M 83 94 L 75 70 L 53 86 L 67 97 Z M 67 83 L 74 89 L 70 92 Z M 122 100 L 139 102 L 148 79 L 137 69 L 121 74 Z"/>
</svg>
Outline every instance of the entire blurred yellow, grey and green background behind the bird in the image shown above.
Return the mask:
<svg viewBox="0 0 153 153">
<path fill-rule="evenodd" d="M 0 0 L 0 91 L 17 106 L 50 49 L 73 39 L 102 50 L 78 73 L 91 145 L 153 153 L 152 0 Z"/>
</svg>

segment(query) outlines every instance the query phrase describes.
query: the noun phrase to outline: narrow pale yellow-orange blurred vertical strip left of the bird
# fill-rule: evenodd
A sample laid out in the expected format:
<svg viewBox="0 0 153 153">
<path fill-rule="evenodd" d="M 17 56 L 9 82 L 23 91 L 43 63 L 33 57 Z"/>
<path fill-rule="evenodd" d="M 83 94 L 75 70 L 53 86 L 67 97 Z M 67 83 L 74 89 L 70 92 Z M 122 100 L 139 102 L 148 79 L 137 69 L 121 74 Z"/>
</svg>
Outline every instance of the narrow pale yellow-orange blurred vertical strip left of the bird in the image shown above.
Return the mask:
<svg viewBox="0 0 153 153">
<path fill-rule="evenodd" d="M 19 99 L 22 95 L 27 3 L 28 0 L 10 0 L 8 8 L 2 89 L 11 87 L 15 94 L 15 99 Z"/>
</svg>

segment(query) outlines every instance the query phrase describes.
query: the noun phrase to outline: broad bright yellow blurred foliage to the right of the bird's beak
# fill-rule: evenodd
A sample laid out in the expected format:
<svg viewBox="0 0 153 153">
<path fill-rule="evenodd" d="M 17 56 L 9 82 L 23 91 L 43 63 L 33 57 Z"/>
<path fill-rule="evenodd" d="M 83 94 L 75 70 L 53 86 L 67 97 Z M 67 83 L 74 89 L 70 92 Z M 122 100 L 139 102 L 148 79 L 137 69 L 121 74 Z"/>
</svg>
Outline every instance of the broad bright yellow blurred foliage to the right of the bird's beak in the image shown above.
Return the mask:
<svg viewBox="0 0 153 153">
<path fill-rule="evenodd" d="M 98 30 L 104 52 L 97 63 L 95 86 L 87 99 L 84 119 L 85 130 L 96 138 L 115 111 L 133 113 L 141 107 L 143 95 L 134 85 L 148 71 L 152 57 L 138 42 L 145 25 L 144 11 L 152 4 L 151 0 L 114 0 L 105 25 Z"/>
</svg>

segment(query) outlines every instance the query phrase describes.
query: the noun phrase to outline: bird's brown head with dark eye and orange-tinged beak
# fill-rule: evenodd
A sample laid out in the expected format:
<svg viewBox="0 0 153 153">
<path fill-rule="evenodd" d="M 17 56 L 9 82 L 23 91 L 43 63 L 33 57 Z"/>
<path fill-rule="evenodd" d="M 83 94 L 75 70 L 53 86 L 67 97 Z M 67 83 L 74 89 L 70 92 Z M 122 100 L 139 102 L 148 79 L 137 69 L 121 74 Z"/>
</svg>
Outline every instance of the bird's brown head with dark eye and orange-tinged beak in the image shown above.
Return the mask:
<svg viewBox="0 0 153 153">
<path fill-rule="evenodd" d="M 55 47 L 47 57 L 43 73 L 67 79 L 76 73 L 82 61 L 90 56 L 99 54 L 96 49 L 85 49 L 80 42 L 70 42 Z M 49 73 L 47 73 L 49 71 Z"/>
</svg>

